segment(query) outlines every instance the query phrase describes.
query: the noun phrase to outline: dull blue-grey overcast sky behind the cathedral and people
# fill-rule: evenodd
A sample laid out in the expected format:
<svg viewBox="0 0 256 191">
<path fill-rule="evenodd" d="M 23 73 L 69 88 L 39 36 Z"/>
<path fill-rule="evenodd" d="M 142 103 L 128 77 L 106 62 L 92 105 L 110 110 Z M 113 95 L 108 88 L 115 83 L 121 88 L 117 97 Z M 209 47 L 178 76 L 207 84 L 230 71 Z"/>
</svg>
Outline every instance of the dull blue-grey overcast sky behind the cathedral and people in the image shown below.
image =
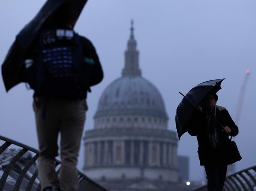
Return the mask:
<svg viewBox="0 0 256 191">
<path fill-rule="evenodd" d="M 15 35 L 44 3 L 45 0 L 0 2 L 0 63 Z M 85 130 L 93 128 L 101 93 L 121 75 L 130 21 L 134 19 L 143 76 L 160 90 L 170 118 L 169 129 L 173 131 L 176 107 L 182 100 L 178 91 L 186 94 L 200 82 L 217 78 L 226 78 L 217 104 L 226 107 L 235 120 L 245 71 L 250 69 L 236 137 L 243 159 L 236 168 L 255 165 L 255 9 L 255 0 L 88 0 L 75 29 L 95 45 L 105 77 L 87 99 Z M 6 93 L 0 78 L 0 135 L 37 148 L 32 95 L 24 84 Z M 189 156 L 191 180 L 202 179 L 196 137 L 186 133 L 178 144 L 178 153 Z M 83 147 L 79 169 L 82 159 Z"/>
</svg>

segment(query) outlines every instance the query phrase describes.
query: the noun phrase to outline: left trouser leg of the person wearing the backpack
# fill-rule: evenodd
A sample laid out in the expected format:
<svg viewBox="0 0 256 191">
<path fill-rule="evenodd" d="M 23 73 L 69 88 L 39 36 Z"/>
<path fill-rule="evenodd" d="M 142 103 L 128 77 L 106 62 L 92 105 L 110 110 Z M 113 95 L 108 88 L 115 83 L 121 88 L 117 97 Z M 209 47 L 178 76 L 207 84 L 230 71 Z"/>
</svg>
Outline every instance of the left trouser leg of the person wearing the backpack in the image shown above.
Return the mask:
<svg viewBox="0 0 256 191">
<path fill-rule="evenodd" d="M 38 173 L 41 187 L 59 187 L 58 177 L 55 172 L 55 157 L 58 156 L 58 124 L 56 110 L 46 103 L 46 118 L 43 118 L 44 101 L 33 102 L 37 137 L 39 144 Z"/>
</svg>

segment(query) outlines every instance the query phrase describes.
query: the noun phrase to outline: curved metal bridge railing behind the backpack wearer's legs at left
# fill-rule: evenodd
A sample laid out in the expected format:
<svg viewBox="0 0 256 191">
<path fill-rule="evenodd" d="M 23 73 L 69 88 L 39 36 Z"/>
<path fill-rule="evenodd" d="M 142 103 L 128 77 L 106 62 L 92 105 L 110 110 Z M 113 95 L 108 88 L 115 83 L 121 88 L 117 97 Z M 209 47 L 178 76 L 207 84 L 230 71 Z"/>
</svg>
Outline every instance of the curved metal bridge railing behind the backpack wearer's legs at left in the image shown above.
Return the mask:
<svg viewBox="0 0 256 191">
<path fill-rule="evenodd" d="M 0 191 L 40 191 L 39 151 L 0 135 Z M 61 162 L 56 160 L 56 173 Z M 78 171 L 80 191 L 107 191 Z"/>
</svg>

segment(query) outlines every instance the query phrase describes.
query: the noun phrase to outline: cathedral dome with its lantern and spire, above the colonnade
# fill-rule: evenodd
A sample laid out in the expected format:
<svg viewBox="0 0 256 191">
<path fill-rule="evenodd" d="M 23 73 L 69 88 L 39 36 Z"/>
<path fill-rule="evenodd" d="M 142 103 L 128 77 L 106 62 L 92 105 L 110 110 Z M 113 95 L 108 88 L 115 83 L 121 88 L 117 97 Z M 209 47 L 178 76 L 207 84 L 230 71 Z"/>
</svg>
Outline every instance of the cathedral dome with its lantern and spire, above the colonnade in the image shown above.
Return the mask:
<svg viewBox="0 0 256 191">
<path fill-rule="evenodd" d="M 95 129 L 149 127 L 167 129 L 168 116 L 158 89 L 141 76 L 134 27 L 124 53 L 122 76 L 102 93 L 95 113 Z"/>
</svg>

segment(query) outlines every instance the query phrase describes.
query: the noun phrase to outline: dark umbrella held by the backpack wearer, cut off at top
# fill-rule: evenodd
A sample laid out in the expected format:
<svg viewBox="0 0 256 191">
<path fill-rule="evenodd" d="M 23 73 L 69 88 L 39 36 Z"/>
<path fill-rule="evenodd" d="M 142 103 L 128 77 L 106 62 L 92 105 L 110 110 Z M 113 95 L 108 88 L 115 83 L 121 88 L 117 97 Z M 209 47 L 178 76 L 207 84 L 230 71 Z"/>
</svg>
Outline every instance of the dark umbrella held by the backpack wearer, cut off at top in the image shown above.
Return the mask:
<svg viewBox="0 0 256 191">
<path fill-rule="evenodd" d="M 22 76 L 24 73 L 23 61 L 25 54 L 39 35 L 42 27 L 52 20 L 53 13 L 64 3 L 70 3 L 77 8 L 78 15 L 80 15 L 86 2 L 87 0 L 48 0 L 37 15 L 25 25 L 16 36 L 2 64 L 2 76 L 6 91 L 20 82 L 24 82 Z"/>
</svg>

